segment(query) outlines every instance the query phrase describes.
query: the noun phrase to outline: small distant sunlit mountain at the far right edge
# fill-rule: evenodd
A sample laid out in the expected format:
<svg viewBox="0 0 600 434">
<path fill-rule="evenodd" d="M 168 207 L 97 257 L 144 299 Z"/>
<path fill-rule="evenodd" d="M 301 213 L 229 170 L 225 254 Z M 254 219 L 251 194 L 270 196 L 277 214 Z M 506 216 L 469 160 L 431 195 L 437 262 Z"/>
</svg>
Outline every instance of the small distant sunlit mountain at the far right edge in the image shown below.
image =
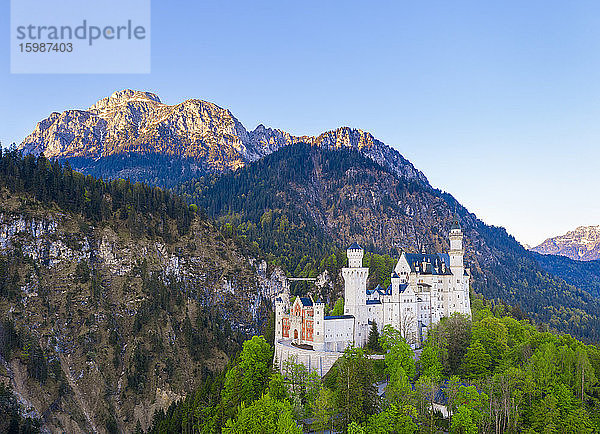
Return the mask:
<svg viewBox="0 0 600 434">
<path fill-rule="evenodd" d="M 579 226 L 564 235 L 548 238 L 531 250 L 542 255 L 561 255 L 578 261 L 600 259 L 600 225 Z"/>
</svg>

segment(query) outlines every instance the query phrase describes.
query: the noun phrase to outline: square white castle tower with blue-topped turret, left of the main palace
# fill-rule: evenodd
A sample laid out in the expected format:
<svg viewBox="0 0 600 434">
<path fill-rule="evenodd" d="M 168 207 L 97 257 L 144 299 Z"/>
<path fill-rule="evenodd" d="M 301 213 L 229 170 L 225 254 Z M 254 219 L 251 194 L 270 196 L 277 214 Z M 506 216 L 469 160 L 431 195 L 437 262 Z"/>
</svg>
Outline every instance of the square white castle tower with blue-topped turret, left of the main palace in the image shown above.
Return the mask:
<svg viewBox="0 0 600 434">
<path fill-rule="evenodd" d="M 354 345 L 362 346 L 368 337 L 367 278 L 369 269 L 362 266 L 364 250 L 357 243 L 346 250 L 348 267 L 342 268 L 344 278 L 344 313 L 354 316 Z"/>
</svg>

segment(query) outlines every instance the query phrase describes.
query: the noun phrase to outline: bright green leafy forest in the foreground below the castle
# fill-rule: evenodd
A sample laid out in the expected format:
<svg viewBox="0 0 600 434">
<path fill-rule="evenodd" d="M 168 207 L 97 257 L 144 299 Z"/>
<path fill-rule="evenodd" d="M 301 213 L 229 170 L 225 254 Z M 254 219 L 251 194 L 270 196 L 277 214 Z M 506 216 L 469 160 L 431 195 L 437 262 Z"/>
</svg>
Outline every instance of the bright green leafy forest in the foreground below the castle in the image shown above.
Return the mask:
<svg viewBox="0 0 600 434">
<path fill-rule="evenodd" d="M 366 348 L 348 348 L 322 379 L 293 362 L 275 371 L 271 344 L 254 336 L 223 373 L 157 412 L 149 432 L 600 430 L 598 347 L 540 330 L 481 296 L 472 308 L 472 319 L 454 314 L 437 324 L 419 357 L 397 330 L 375 327 Z M 377 352 L 384 360 L 368 358 Z"/>
</svg>

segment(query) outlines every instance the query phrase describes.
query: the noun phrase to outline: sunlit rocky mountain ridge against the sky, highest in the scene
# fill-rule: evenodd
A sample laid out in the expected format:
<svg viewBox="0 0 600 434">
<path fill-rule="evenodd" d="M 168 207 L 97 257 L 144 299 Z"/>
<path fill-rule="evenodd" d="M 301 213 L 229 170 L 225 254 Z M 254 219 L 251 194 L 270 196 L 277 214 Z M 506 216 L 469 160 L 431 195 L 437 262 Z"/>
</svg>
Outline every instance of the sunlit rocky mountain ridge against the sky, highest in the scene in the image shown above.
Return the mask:
<svg viewBox="0 0 600 434">
<path fill-rule="evenodd" d="M 408 160 L 361 130 L 343 127 L 317 137 L 263 125 L 247 131 L 229 110 L 213 103 L 190 99 L 167 105 L 153 93 L 129 89 L 87 110 L 50 114 L 19 149 L 68 160 L 74 169 L 98 177 L 171 186 L 196 175 L 238 169 L 297 142 L 357 149 L 398 175 L 427 184 Z"/>
</svg>

